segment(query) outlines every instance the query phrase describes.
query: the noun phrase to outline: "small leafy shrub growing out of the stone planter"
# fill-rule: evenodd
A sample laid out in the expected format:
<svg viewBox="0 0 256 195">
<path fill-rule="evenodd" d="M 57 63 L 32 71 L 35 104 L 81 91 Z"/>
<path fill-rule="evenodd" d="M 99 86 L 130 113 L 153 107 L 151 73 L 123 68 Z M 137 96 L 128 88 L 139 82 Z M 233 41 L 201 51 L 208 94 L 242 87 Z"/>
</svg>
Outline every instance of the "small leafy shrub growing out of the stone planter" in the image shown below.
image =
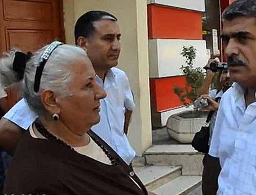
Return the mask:
<svg viewBox="0 0 256 195">
<path fill-rule="evenodd" d="M 177 94 L 184 105 L 194 102 L 197 99 L 198 91 L 203 83 L 205 73 L 202 68 L 194 68 L 193 63 L 197 50 L 194 46 L 183 46 L 181 55 L 186 58 L 186 66 L 181 66 L 181 70 L 186 77 L 186 86 L 179 88 L 175 85 L 174 93 Z"/>
</svg>

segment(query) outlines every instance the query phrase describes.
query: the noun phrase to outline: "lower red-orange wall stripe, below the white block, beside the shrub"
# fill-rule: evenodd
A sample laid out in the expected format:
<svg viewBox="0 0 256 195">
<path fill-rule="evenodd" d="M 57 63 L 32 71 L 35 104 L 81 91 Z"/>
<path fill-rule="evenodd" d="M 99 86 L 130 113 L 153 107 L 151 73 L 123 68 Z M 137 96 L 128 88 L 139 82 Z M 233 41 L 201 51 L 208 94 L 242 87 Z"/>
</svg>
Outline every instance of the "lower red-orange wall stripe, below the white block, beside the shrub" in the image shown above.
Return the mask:
<svg viewBox="0 0 256 195">
<path fill-rule="evenodd" d="M 174 93 L 174 85 L 184 87 L 185 76 L 150 79 L 151 105 L 154 112 L 163 112 L 183 105 Z"/>
</svg>

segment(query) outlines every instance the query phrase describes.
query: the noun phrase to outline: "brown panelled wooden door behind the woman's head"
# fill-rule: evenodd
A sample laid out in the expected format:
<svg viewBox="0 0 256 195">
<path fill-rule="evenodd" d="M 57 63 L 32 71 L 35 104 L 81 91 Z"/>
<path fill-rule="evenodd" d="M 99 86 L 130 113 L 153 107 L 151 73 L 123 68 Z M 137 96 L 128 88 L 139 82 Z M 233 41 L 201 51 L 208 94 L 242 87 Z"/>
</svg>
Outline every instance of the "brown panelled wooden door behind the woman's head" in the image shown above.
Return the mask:
<svg viewBox="0 0 256 195">
<path fill-rule="evenodd" d="M 35 51 L 57 39 L 65 41 L 62 0 L 0 0 L 0 53 L 12 48 Z M 7 89 L 8 107 L 18 101 Z"/>
</svg>

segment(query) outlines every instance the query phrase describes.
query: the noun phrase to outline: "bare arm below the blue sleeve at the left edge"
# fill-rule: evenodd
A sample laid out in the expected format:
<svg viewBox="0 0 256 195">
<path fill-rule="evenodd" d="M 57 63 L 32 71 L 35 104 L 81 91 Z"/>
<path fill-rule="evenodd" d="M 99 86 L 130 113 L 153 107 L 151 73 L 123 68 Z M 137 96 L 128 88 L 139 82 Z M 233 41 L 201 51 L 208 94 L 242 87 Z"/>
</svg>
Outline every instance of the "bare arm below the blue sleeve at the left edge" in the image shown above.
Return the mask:
<svg viewBox="0 0 256 195">
<path fill-rule="evenodd" d="M 0 147 L 12 156 L 18 140 L 24 134 L 24 130 L 9 120 L 0 120 Z"/>
</svg>

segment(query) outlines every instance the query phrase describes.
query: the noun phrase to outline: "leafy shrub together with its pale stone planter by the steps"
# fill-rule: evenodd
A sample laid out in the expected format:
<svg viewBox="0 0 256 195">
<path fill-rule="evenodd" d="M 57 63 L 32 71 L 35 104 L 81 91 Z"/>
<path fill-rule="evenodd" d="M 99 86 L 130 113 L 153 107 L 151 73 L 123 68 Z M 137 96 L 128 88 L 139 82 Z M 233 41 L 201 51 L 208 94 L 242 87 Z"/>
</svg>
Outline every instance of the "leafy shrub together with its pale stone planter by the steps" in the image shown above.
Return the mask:
<svg viewBox="0 0 256 195">
<path fill-rule="evenodd" d="M 185 65 L 181 66 L 182 73 L 186 78 L 186 85 L 178 87 L 175 85 L 174 92 L 179 96 L 180 101 L 189 106 L 197 99 L 198 91 L 203 83 L 205 71 L 193 66 L 197 50 L 193 46 L 183 46 L 181 55 L 185 57 Z M 191 143 L 196 132 L 204 125 L 207 112 L 188 111 L 172 115 L 167 120 L 167 132 L 170 137 L 181 143 Z"/>
</svg>

